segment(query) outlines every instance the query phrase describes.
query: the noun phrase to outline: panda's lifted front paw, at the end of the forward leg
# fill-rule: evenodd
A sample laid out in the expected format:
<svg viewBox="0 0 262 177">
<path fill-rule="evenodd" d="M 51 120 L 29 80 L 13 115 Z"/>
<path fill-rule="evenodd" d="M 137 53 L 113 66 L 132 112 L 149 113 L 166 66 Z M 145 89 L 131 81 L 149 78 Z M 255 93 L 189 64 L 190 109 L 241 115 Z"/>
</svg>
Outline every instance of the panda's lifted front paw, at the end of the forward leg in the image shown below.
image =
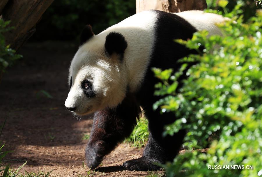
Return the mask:
<svg viewBox="0 0 262 177">
<path fill-rule="evenodd" d="M 90 169 L 95 169 L 102 162 L 105 151 L 105 141 L 96 141 L 93 145 L 86 147 L 85 162 Z"/>
</svg>

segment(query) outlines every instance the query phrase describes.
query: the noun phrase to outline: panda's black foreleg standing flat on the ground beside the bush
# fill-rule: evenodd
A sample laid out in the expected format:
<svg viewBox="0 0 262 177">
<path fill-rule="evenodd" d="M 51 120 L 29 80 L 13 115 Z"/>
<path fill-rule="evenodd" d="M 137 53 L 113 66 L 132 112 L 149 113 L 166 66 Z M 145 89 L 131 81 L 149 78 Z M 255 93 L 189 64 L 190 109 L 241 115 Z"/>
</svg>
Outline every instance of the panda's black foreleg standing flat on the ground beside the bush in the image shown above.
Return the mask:
<svg viewBox="0 0 262 177">
<path fill-rule="evenodd" d="M 148 171 L 160 169 L 157 163 L 171 162 L 178 154 L 185 137 L 184 130 L 179 131 L 173 136 L 162 136 L 164 125 L 174 122 L 174 114 L 159 114 L 159 110 L 144 110 L 149 120 L 149 139 L 142 157 L 126 161 L 123 164 L 129 170 Z"/>
</svg>

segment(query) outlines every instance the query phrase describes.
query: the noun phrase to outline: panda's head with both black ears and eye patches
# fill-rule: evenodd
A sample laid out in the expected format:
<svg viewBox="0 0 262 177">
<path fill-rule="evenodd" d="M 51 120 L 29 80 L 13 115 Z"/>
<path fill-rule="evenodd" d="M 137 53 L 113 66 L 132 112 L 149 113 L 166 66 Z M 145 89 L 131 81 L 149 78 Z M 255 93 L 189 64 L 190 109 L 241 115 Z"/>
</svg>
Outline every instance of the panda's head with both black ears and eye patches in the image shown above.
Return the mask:
<svg viewBox="0 0 262 177">
<path fill-rule="evenodd" d="M 121 33 L 95 36 L 87 25 L 81 45 L 72 59 L 65 107 L 78 115 L 118 105 L 125 97 L 127 82 L 123 57 L 127 42 Z"/>
</svg>

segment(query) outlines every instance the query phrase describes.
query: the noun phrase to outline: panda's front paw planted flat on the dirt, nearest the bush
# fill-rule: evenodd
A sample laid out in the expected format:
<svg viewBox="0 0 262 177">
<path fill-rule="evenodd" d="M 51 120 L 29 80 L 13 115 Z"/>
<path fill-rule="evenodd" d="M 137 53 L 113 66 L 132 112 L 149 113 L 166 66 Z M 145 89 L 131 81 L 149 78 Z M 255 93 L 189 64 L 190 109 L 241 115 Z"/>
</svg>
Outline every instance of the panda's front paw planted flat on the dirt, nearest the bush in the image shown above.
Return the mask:
<svg viewBox="0 0 262 177">
<path fill-rule="evenodd" d="M 160 167 L 155 165 L 155 162 L 149 160 L 145 157 L 140 157 L 138 159 L 128 160 L 124 162 L 123 166 L 127 170 L 136 170 L 136 171 L 148 171 L 148 170 L 159 170 Z"/>
</svg>

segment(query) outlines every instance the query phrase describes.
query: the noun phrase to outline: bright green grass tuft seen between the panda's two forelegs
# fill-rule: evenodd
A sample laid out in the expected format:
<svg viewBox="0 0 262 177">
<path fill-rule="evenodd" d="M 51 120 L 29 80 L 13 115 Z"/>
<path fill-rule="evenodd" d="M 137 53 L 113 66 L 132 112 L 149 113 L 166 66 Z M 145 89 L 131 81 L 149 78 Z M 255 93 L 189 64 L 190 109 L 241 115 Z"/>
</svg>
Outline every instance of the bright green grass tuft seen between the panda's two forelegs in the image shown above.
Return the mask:
<svg viewBox="0 0 262 177">
<path fill-rule="evenodd" d="M 141 117 L 130 137 L 125 139 L 124 142 L 130 143 L 130 145 L 133 147 L 141 148 L 146 145 L 148 141 L 148 135 L 148 120 Z"/>
</svg>

